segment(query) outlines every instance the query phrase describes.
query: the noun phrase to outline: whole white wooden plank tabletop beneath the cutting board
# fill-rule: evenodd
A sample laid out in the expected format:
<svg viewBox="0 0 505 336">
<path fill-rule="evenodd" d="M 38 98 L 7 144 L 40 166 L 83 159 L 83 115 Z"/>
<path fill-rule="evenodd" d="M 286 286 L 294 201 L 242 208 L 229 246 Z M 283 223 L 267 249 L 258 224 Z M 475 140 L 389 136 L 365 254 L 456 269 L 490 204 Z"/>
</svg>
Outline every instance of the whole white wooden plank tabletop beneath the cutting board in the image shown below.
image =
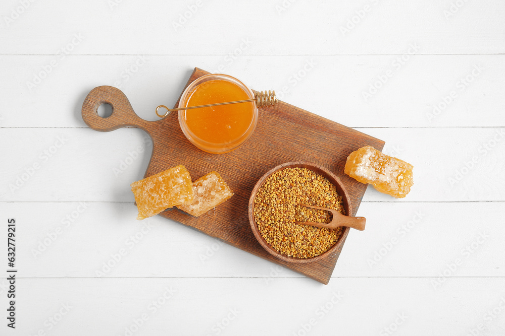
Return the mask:
<svg viewBox="0 0 505 336">
<path fill-rule="evenodd" d="M 500 0 L 3 1 L 0 334 L 504 335 L 504 17 Z M 135 220 L 151 144 L 89 129 L 82 101 L 116 86 L 156 120 L 194 66 L 415 166 L 406 198 L 369 187 L 329 285 Z"/>
</svg>

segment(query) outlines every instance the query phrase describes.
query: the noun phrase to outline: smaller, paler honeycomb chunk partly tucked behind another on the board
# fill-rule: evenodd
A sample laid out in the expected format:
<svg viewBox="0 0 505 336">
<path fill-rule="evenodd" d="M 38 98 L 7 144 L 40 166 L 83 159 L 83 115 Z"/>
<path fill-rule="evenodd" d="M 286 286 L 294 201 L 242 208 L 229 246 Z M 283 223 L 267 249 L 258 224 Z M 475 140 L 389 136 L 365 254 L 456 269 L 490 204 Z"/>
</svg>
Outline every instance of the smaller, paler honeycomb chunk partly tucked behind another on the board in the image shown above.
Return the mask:
<svg viewBox="0 0 505 336">
<path fill-rule="evenodd" d="M 193 183 L 194 201 L 190 205 L 177 206 L 195 217 L 219 206 L 233 195 L 230 187 L 218 172 L 211 171 Z"/>
</svg>

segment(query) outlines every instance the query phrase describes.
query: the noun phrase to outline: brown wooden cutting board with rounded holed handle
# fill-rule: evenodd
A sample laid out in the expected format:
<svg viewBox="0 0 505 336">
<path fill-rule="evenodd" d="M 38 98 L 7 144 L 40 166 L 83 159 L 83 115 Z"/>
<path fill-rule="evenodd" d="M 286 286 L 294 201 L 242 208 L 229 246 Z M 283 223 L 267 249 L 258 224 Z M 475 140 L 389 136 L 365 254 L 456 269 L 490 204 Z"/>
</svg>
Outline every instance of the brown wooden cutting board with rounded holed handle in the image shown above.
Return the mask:
<svg viewBox="0 0 505 336">
<path fill-rule="evenodd" d="M 195 68 L 186 86 L 207 74 Z M 113 108 L 112 115 L 107 118 L 97 114 L 98 106 L 103 103 Z M 100 86 L 91 90 L 82 105 L 82 118 L 92 129 L 111 131 L 133 126 L 148 133 L 153 140 L 153 155 L 145 177 L 182 164 L 193 180 L 212 170 L 218 171 L 235 193 L 215 212 L 200 217 L 189 216 L 176 208 L 164 211 L 161 216 L 194 227 L 326 285 L 340 249 L 323 260 L 310 263 L 289 263 L 269 254 L 258 243 L 249 225 L 247 205 L 252 188 L 274 166 L 288 161 L 310 161 L 340 177 L 351 197 L 354 209 L 351 215 L 354 216 L 367 185 L 343 173 L 345 160 L 352 151 L 366 145 L 382 150 L 384 142 L 281 101 L 274 107 L 260 109 L 259 113 L 254 134 L 242 146 L 226 154 L 209 154 L 194 147 L 184 137 L 177 113 L 170 113 L 158 121 L 143 120 L 135 114 L 123 92 L 114 87 Z M 347 228 L 341 239 L 345 240 L 348 233 Z"/>
</svg>

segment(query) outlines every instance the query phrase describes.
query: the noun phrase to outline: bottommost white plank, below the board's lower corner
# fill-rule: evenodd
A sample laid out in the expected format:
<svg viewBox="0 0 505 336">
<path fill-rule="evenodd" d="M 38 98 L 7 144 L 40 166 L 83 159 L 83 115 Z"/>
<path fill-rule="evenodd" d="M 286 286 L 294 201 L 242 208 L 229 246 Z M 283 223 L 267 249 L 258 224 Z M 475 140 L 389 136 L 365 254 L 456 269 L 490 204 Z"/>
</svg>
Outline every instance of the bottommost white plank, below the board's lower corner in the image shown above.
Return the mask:
<svg viewBox="0 0 505 336">
<path fill-rule="evenodd" d="M 16 332 L 380 335 L 388 328 L 465 335 L 482 324 L 479 334 L 503 334 L 503 278 L 459 278 L 438 290 L 430 281 L 340 278 L 324 286 L 304 278 L 119 278 L 80 279 L 75 286 L 73 279 L 19 279 L 20 305 L 31 304 Z"/>
</svg>

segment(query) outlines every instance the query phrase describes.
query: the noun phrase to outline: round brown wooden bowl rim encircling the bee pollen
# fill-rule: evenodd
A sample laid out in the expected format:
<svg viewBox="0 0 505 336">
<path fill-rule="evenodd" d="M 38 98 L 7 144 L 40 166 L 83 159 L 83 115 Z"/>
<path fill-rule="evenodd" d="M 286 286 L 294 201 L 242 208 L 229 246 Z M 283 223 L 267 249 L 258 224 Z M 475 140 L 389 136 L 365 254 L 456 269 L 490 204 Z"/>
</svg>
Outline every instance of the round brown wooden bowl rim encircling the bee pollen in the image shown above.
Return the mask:
<svg viewBox="0 0 505 336">
<path fill-rule="evenodd" d="M 284 168 L 307 168 L 307 169 L 310 169 L 310 170 L 326 177 L 336 187 L 338 194 L 340 196 L 342 196 L 342 204 L 345 209 L 345 214 L 347 216 L 349 216 L 349 214 L 352 214 L 352 206 L 350 203 L 349 194 L 345 190 L 345 187 L 342 184 L 342 182 L 340 182 L 340 178 L 338 178 L 338 176 L 336 176 L 335 174 L 333 174 L 332 172 L 330 172 L 329 170 L 327 170 L 323 166 L 320 166 L 320 165 L 317 165 L 314 163 L 310 163 L 307 161 L 286 162 L 286 163 L 278 165 L 278 166 L 270 169 L 268 172 L 266 172 L 265 175 L 263 175 L 260 178 L 260 180 L 256 183 L 254 189 L 252 189 L 252 192 L 251 192 L 251 195 L 249 198 L 249 223 L 251 225 L 252 233 L 254 233 L 258 242 L 261 244 L 261 246 L 263 246 L 264 249 L 267 250 L 268 253 L 272 254 L 273 256 L 275 256 L 281 260 L 288 261 L 288 262 L 294 262 L 294 263 L 303 263 L 303 262 L 312 262 L 312 261 L 321 260 L 321 259 L 327 257 L 328 255 L 330 255 L 331 253 L 333 253 L 333 251 L 335 251 L 336 249 L 339 249 L 342 247 L 342 244 L 345 241 L 345 238 L 349 234 L 348 227 L 345 227 L 343 229 L 342 234 L 340 235 L 337 242 L 332 247 L 330 247 L 326 252 L 324 252 L 320 255 L 317 255 L 315 257 L 312 257 L 312 258 L 296 258 L 296 257 L 287 256 L 286 254 L 281 254 L 281 253 L 277 252 L 277 250 L 273 249 L 266 242 L 266 240 L 263 238 L 260 231 L 258 230 L 258 225 L 256 224 L 256 221 L 254 219 L 254 215 L 252 213 L 254 211 L 256 193 L 258 192 L 260 187 L 263 185 L 265 180 L 270 177 L 270 175 L 272 175 L 273 173 L 275 173 L 279 170 L 282 170 Z"/>
</svg>

